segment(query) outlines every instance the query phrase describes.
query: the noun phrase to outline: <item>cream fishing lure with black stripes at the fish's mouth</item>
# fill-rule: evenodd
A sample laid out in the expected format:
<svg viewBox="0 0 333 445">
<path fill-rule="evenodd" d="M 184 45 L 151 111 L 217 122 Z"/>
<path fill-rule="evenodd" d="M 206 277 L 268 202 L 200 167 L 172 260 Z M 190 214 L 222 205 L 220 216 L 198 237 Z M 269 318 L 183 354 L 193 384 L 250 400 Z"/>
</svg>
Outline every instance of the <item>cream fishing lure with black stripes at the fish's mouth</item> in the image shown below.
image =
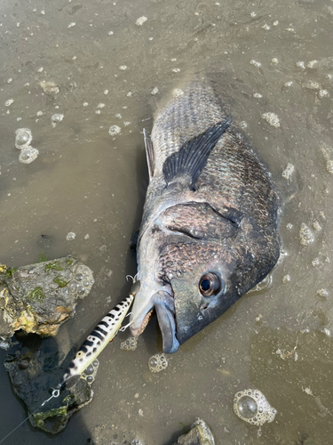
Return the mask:
<svg viewBox="0 0 333 445">
<path fill-rule="evenodd" d="M 107 315 L 99 321 L 99 324 L 91 331 L 91 334 L 87 337 L 78 352 L 76 352 L 75 359 L 69 363 L 58 388 L 62 390 L 65 386 L 67 388 L 74 386 L 81 378 L 84 369 L 88 368 L 107 344 L 114 339 L 138 291 L 139 281 L 136 281 L 131 288 L 131 294 L 121 303 L 116 304 L 115 307 L 110 312 L 107 312 Z"/>
</svg>

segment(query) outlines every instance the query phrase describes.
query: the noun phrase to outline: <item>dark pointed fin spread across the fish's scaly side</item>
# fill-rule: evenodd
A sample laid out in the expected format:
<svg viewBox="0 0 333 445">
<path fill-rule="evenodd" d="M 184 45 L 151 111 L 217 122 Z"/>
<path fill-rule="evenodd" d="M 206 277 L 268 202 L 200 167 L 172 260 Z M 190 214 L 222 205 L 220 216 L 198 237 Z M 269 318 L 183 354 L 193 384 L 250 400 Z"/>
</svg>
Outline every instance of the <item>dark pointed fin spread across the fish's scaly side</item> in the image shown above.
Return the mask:
<svg viewBox="0 0 333 445">
<path fill-rule="evenodd" d="M 211 150 L 231 123 L 231 117 L 226 117 L 226 120 L 211 126 L 205 133 L 186 142 L 180 150 L 172 153 L 163 165 L 165 181 L 169 184 L 178 174 L 190 174 L 191 188 L 193 188 L 207 163 Z"/>
</svg>

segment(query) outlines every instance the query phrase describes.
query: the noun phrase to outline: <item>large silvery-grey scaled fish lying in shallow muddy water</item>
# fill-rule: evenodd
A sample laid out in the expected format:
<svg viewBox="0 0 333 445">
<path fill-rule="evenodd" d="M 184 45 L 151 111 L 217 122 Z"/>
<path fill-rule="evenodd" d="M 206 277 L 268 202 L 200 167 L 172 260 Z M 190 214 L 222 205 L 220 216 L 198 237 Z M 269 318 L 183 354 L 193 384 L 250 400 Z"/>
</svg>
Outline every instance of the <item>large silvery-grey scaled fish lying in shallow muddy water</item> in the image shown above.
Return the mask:
<svg viewBox="0 0 333 445">
<path fill-rule="evenodd" d="M 171 353 L 273 269 L 279 197 L 207 79 L 166 101 L 144 139 L 149 184 L 131 334 L 143 332 L 155 309 L 163 351 Z"/>
</svg>

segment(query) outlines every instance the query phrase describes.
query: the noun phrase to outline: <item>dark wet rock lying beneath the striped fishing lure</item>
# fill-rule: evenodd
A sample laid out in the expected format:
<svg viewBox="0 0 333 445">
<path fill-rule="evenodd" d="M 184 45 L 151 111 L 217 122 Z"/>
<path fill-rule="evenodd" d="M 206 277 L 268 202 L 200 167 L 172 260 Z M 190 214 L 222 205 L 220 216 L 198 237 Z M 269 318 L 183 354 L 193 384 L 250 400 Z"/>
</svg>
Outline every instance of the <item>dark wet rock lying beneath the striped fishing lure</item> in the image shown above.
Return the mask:
<svg viewBox="0 0 333 445">
<path fill-rule="evenodd" d="M 31 424 L 47 433 L 56 434 L 65 428 L 75 411 L 92 400 L 91 383 L 99 363 L 95 360 L 94 366 L 84 371 L 83 378 L 75 386 L 45 402 L 42 407 L 42 403 L 51 397 L 49 388 L 59 384 L 64 372 L 63 367 L 59 367 L 61 357 L 57 344 L 52 343 L 52 347 L 42 350 L 36 348 L 36 342 L 35 347 L 21 346 L 15 353 L 7 354 L 4 367 L 9 373 L 14 392 L 26 405 Z M 71 359 L 70 355 L 66 362 Z"/>
</svg>

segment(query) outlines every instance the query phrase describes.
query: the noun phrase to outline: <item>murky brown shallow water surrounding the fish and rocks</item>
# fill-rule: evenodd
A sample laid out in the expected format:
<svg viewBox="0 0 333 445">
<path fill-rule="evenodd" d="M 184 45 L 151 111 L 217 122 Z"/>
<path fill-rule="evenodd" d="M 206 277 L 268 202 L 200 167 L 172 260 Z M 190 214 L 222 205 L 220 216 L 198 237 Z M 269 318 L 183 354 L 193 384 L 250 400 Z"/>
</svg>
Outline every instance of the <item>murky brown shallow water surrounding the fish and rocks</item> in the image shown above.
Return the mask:
<svg viewBox="0 0 333 445">
<path fill-rule="evenodd" d="M 151 129 L 163 94 L 193 74 L 209 73 L 270 166 L 285 254 L 271 287 L 243 297 L 170 356 L 166 370 L 152 374 L 147 366 L 161 351 L 153 320 L 135 352 L 119 349 L 129 336 L 123 333 L 102 353 L 94 399 L 63 433 L 51 438 L 26 423 L 6 443 L 170 444 L 195 417 L 217 443 L 330 443 L 332 2 L 35 0 L 0 7 L 1 263 L 74 254 L 95 276 L 91 295 L 60 329 L 59 348 L 79 345 L 130 288 L 125 275 L 136 264 L 128 243 L 147 188 L 142 128 Z M 147 21 L 136 25 L 142 16 Z M 51 93 L 43 82 L 53 83 Z M 280 127 L 262 118 L 267 112 Z M 64 118 L 52 127 L 54 113 Z M 120 134 L 110 136 L 111 125 Z M 14 146 L 22 127 L 39 150 L 29 165 Z M 76 236 L 68 241 L 70 231 Z M 0 374 L 1 440 L 26 413 L 2 367 Z M 250 387 L 277 409 L 272 424 L 251 426 L 234 415 L 234 393 Z"/>
</svg>

